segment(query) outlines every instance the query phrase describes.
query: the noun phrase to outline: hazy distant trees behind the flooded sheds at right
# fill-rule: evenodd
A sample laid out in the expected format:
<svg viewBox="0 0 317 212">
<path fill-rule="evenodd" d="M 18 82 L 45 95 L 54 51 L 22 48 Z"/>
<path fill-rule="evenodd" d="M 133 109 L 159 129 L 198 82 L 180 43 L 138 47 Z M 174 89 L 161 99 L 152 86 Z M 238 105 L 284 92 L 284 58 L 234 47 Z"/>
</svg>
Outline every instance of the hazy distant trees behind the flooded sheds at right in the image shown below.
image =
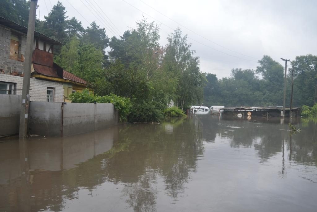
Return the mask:
<svg viewBox="0 0 317 212">
<path fill-rule="evenodd" d="M 204 105 L 283 106 L 285 67 L 264 55 L 256 70 L 235 68 L 230 77 L 206 75 Z M 297 56 L 288 64 L 286 106 L 290 106 L 292 73 L 293 107 L 313 106 L 316 102 L 317 56 Z"/>
</svg>

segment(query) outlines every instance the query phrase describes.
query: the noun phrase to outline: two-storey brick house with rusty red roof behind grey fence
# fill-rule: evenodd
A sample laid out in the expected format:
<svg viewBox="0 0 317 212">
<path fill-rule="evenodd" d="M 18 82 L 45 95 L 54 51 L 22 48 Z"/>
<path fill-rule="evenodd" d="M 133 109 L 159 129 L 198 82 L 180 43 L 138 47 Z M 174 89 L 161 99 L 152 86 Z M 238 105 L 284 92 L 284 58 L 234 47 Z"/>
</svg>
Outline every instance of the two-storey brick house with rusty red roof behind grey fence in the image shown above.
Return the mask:
<svg viewBox="0 0 317 212">
<path fill-rule="evenodd" d="M 26 27 L 0 16 L 0 94 L 22 94 L 26 36 Z M 35 31 L 30 101 L 64 102 L 66 88 L 87 86 L 85 80 L 54 63 L 54 45 L 61 43 Z"/>
</svg>

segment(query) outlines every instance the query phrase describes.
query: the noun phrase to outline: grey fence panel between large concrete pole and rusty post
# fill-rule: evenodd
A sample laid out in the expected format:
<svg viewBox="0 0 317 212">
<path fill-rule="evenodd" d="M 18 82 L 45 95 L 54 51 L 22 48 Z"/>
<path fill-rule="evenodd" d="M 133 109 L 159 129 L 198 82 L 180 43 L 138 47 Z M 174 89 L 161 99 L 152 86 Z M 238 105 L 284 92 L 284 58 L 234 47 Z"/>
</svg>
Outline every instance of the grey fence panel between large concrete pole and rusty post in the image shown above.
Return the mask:
<svg viewBox="0 0 317 212">
<path fill-rule="evenodd" d="M 29 133 L 62 136 L 62 103 L 30 102 Z"/>
</svg>

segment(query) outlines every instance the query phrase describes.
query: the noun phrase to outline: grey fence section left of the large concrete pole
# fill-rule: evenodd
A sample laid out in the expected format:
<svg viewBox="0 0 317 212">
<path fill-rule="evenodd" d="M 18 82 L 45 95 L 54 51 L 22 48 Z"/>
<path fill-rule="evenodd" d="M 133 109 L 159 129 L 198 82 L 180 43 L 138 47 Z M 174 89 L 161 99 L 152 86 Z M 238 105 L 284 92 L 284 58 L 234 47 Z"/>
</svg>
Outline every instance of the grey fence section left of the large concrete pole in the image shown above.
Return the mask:
<svg viewBox="0 0 317 212">
<path fill-rule="evenodd" d="M 0 136 L 19 132 L 21 96 L 0 94 Z"/>
</svg>

